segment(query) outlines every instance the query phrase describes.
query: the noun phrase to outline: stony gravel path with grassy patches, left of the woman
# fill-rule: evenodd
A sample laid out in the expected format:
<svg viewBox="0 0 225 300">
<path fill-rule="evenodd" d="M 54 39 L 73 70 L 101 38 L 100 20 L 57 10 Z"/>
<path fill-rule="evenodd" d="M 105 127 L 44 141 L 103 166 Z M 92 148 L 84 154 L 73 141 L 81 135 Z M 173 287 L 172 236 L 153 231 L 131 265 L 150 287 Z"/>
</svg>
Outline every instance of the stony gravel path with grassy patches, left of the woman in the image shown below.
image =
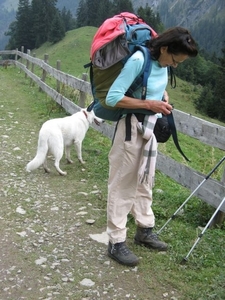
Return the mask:
<svg viewBox="0 0 225 300">
<path fill-rule="evenodd" d="M 88 190 L 87 173 L 79 163 L 74 164 L 79 179 L 55 170 L 50 175 L 42 169 L 25 172 L 41 125 L 29 105 L 36 95 L 3 75 L 0 300 L 178 299 L 174 291 L 158 288 L 154 278 L 151 289 L 146 286 L 137 267 L 109 260 L 105 226 L 96 226 L 98 216 L 105 214 L 96 204 L 100 191 L 96 186 Z"/>
</svg>

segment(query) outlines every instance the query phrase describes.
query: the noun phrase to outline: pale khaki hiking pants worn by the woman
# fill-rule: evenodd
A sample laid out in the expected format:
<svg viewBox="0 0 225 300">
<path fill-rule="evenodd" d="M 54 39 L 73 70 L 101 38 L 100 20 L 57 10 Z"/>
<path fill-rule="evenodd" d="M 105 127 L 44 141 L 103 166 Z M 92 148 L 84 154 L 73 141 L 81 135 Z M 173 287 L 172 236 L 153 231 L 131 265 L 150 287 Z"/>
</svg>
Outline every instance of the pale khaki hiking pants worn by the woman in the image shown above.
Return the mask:
<svg viewBox="0 0 225 300">
<path fill-rule="evenodd" d="M 139 183 L 145 140 L 137 131 L 137 119 L 131 117 L 131 141 L 125 141 L 125 118 L 118 123 L 109 152 L 109 181 L 107 202 L 107 233 L 112 244 L 126 240 L 127 216 L 131 213 L 140 227 L 154 227 L 151 209 L 152 190 L 147 183 Z"/>
</svg>

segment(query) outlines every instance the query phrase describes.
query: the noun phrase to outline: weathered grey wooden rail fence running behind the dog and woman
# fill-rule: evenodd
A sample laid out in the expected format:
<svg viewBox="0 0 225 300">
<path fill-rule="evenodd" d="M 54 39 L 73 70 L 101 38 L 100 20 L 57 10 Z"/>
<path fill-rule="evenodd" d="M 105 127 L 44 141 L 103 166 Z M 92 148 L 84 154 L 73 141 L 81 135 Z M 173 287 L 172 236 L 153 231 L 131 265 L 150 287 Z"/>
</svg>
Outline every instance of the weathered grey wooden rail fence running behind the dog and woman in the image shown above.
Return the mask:
<svg viewBox="0 0 225 300">
<path fill-rule="evenodd" d="M 83 74 L 83 79 L 79 79 L 60 71 L 60 61 L 57 61 L 56 68 L 51 67 L 48 64 L 47 54 L 44 56 L 44 59 L 41 60 L 36 58 L 35 55 L 31 56 L 29 50 L 27 53 L 24 53 L 22 47 L 21 51 L 0 51 L 0 55 L 2 58 L 9 57 L 9 55 L 10 57 L 14 57 L 14 59 L 3 59 L 0 61 L 0 64 L 5 68 L 7 68 L 8 65 L 13 64 L 24 71 L 25 77 L 29 76 L 32 82 L 35 82 L 39 86 L 40 90 L 47 93 L 69 114 L 73 114 L 79 111 L 81 107 L 85 107 L 87 104 L 86 96 L 89 95 L 89 97 L 91 97 L 90 83 L 86 81 L 87 76 L 85 74 Z M 35 67 L 41 69 L 41 77 L 35 75 Z M 45 83 L 47 75 L 56 80 L 55 88 L 52 88 Z M 79 91 L 79 105 L 76 105 L 60 94 L 60 85 L 62 84 Z M 201 143 L 225 150 L 224 126 L 199 119 L 176 109 L 173 113 L 178 131 L 199 140 Z M 115 124 L 108 124 L 105 122 L 101 127 L 93 125 L 93 128 L 112 139 Z M 206 175 L 203 175 L 186 165 L 180 164 L 162 153 L 159 153 L 158 155 L 157 169 L 191 191 L 194 191 L 206 178 Z M 207 178 L 207 184 L 202 185 L 194 195 L 214 208 L 217 208 L 225 195 L 225 170 L 223 171 L 221 181 Z M 224 213 L 225 205 L 220 208 L 219 213 L 214 219 L 215 224 L 221 224 L 223 222 Z"/>
</svg>

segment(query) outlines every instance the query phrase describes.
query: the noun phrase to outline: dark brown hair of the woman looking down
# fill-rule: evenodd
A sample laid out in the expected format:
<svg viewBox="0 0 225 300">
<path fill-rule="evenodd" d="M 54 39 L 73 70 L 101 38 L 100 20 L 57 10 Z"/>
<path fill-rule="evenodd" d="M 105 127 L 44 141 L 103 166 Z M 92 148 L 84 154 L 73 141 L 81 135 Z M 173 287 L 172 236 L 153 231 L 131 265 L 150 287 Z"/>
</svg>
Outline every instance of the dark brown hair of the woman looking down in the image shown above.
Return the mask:
<svg viewBox="0 0 225 300">
<path fill-rule="evenodd" d="M 183 27 L 172 27 L 162 34 L 151 39 L 147 45 L 150 48 L 153 59 L 158 59 L 161 47 L 168 47 L 168 53 L 179 55 L 185 54 L 195 57 L 198 54 L 197 45 L 190 32 Z"/>
</svg>

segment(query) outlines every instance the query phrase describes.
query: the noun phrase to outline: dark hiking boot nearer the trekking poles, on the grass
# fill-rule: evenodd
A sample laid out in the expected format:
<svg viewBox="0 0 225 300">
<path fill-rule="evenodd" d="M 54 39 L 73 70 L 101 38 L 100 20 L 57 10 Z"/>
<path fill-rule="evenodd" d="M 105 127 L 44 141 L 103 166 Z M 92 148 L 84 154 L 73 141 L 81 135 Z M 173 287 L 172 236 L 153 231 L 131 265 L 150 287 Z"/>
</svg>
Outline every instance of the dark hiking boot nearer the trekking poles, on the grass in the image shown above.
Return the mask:
<svg viewBox="0 0 225 300">
<path fill-rule="evenodd" d="M 152 228 L 138 227 L 134 237 L 134 243 L 158 251 L 166 251 L 168 247 L 166 243 L 159 240 L 156 233 L 152 232 Z"/>
</svg>

